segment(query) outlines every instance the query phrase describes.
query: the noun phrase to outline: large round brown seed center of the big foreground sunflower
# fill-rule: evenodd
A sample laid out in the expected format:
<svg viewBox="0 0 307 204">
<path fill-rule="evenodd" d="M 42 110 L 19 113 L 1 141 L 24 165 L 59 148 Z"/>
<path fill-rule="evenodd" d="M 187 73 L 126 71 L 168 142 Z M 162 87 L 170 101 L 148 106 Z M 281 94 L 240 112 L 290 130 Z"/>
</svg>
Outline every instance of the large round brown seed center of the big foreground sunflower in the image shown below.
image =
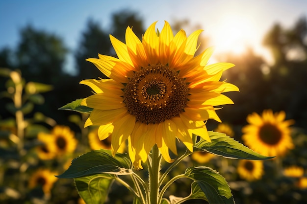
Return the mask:
<svg viewBox="0 0 307 204">
<path fill-rule="evenodd" d="M 142 123 L 160 123 L 181 113 L 188 87 L 168 66 L 150 65 L 135 72 L 124 90 L 128 111 Z"/>
</svg>

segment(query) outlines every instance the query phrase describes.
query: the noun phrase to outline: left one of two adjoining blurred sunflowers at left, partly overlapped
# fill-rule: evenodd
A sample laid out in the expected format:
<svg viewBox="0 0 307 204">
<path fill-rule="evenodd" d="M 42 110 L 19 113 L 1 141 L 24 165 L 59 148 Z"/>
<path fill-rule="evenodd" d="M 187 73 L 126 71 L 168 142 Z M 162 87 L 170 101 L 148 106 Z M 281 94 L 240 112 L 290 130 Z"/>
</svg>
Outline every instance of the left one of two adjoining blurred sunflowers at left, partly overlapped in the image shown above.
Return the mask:
<svg viewBox="0 0 307 204">
<path fill-rule="evenodd" d="M 54 159 L 55 154 L 55 144 L 53 142 L 53 137 L 50 134 L 46 133 L 39 133 L 37 135 L 37 139 L 43 142 L 43 145 L 36 147 L 36 153 L 39 159 L 48 160 Z"/>
</svg>

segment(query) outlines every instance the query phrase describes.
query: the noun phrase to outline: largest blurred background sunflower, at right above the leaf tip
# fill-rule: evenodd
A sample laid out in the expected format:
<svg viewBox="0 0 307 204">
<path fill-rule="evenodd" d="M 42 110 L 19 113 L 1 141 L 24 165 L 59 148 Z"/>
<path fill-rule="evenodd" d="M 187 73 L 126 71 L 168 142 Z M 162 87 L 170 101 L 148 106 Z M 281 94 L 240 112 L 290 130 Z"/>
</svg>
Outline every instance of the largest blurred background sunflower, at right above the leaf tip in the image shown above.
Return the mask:
<svg viewBox="0 0 307 204">
<path fill-rule="evenodd" d="M 248 115 L 250 123 L 242 128 L 242 139 L 254 151 L 264 156 L 284 155 L 294 147 L 289 126 L 294 120 L 284 120 L 285 113 L 264 110 L 262 116 L 257 113 Z"/>
</svg>

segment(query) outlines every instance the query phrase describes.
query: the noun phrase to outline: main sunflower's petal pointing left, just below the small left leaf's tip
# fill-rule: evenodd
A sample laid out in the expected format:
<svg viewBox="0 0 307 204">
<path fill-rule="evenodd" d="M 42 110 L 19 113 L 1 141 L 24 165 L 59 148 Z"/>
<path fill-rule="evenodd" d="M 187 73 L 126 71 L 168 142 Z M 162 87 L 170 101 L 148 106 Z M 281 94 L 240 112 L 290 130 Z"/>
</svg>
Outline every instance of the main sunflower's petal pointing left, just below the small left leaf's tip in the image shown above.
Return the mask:
<svg viewBox="0 0 307 204">
<path fill-rule="evenodd" d="M 121 118 L 125 113 L 127 113 L 126 107 L 113 110 L 94 109 L 89 118 L 85 121 L 84 127 L 112 123 L 118 118 Z"/>
</svg>

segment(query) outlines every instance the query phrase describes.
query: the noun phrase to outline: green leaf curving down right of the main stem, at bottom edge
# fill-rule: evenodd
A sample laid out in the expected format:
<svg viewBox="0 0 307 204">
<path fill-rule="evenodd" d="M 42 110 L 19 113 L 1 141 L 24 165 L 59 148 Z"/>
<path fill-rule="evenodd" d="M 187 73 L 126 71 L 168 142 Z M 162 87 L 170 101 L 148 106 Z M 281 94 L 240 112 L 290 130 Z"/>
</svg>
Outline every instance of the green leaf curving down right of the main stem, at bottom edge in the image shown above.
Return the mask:
<svg viewBox="0 0 307 204">
<path fill-rule="evenodd" d="M 184 175 L 198 184 L 210 204 L 234 204 L 228 183 L 217 171 L 209 167 L 198 166 L 188 168 Z M 196 195 L 191 195 L 191 197 L 193 199 L 204 199 L 204 195 L 200 193 L 196 184 L 193 183 L 191 185 L 192 194 L 196 193 Z"/>
</svg>

